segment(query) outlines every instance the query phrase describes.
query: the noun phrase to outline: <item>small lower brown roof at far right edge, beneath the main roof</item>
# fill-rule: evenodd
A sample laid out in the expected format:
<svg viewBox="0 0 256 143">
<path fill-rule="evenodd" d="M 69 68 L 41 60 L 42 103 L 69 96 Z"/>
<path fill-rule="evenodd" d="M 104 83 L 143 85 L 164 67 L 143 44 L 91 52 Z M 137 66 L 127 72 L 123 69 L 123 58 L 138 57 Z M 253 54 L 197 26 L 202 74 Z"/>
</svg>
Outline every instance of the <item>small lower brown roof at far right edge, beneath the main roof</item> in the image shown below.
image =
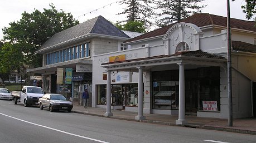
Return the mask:
<svg viewBox="0 0 256 143">
<path fill-rule="evenodd" d="M 241 41 L 232 41 L 231 44 L 232 44 L 233 50 L 235 51 L 256 53 L 256 45 L 241 42 Z"/>
</svg>

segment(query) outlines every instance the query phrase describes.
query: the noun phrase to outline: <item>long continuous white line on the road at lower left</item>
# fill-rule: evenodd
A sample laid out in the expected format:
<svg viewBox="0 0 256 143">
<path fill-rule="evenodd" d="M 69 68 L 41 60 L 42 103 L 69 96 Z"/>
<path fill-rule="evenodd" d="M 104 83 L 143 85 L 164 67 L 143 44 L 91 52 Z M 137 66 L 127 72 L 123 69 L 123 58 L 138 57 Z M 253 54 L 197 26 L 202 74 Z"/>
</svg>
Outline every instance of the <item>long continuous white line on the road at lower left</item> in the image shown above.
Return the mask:
<svg viewBox="0 0 256 143">
<path fill-rule="evenodd" d="M 12 119 L 16 119 L 16 120 L 19 120 L 19 121 L 22 121 L 22 122 L 26 122 L 28 124 L 32 124 L 32 125 L 36 125 L 36 126 L 40 126 L 40 127 L 45 127 L 46 129 L 50 129 L 50 130 L 54 130 L 54 131 L 59 131 L 59 132 L 62 132 L 64 134 L 68 134 L 68 135 L 72 135 L 72 136 L 77 136 L 77 137 L 81 137 L 81 138 L 84 138 L 84 139 L 93 140 L 93 141 L 97 141 L 97 142 L 109 143 L 109 142 L 105 142 L 105 141 L 101 141 L 101 140 L 92 139 L 90 137 L 80 136 L 80 135 L 72 134 L 70 132 L 65 132 L 65 131 L 54 129 L 54 128 L 51 128 L 51 127 L 35 124 L 33 122 L 28 122 L 28 121 L 25 121 L 25 120 L 22 120 L 22 119 L 18 119 L 16 117 L 12 117 L 12 116 L 9 116 L 9 115 L 6 115 L 6 114 L 2 114 L 2 113 L 0 113 L 0 114 L 3 115 L 3 116 L 11 117 Z"/>
</svg>

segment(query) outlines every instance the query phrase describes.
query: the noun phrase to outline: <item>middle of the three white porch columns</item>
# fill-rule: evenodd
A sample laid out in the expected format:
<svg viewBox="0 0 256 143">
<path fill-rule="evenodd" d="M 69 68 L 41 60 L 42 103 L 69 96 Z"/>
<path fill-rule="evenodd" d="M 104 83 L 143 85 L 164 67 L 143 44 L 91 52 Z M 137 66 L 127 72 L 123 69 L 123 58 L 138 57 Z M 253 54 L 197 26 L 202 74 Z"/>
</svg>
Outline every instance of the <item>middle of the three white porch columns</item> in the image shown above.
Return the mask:
<svg viewBox="0 0 256 143">
<path fill-rule="evenodd" d="M 143 67 L 137 67 L 139 69 L 139 83 L 138 83 L 138 116 L 135 120 L 145 120 L 143 116 Z"/>
</svg>

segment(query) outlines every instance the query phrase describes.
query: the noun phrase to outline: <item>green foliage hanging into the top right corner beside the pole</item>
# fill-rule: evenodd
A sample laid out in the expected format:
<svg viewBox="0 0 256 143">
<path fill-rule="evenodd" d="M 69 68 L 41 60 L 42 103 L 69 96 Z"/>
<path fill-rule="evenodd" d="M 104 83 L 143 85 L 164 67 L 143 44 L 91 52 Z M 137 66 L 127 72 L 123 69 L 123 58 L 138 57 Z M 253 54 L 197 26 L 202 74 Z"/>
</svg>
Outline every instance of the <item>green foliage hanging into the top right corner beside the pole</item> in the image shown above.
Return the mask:
<svg viewBox="0 0 256 143">
<path fill-rule="evenodd" d="M 232 0 L 235 1 L 235 0 Z M 256 1 L 255 0 L 245 0 L 246 1 L 246 5 L 245 6 L 241 6 L 241 8 L 243 8 L 243 12 L 246 13 L 246 18 L 250 19 L 252 18 L 253 14 L 256 13 Z"/>
</svg>

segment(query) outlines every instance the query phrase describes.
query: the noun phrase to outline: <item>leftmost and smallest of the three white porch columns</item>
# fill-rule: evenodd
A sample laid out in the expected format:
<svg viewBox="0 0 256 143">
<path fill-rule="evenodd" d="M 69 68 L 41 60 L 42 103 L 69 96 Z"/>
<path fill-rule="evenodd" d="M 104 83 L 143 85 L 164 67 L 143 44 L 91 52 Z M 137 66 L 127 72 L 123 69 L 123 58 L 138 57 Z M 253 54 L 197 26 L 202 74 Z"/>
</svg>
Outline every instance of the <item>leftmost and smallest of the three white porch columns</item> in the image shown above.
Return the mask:
<svg viewBox="0 0 256 143">
<path fill-rule="evenodd" d="M 105 117 L 113 116 L 111 112 L 111 77 L 110 72 L 107 71 L 107 112 L 104 114 Z"/>
</svg>

